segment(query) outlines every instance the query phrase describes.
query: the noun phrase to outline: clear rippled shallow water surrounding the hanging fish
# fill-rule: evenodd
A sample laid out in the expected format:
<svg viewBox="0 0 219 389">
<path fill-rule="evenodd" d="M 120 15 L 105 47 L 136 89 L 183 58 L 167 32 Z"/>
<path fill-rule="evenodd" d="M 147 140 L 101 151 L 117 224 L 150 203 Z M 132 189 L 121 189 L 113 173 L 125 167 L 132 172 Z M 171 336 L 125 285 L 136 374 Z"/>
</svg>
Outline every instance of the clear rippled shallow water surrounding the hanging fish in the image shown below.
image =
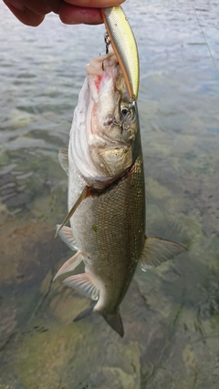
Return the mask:
<svg viewBox="0 0 219 389">
<path fill-rule="evenodd" d="M 71 255 L 54 240 L 67 211 L 57 151 L 104 29 L 56 15 L 31 28 L 1 4 L 1 389 L 219 385 L 218 6 L 124 7 L 140 50 L 147 233 L 189 253 L 137 271 L 121 304 L 123 339 L 98 315 L 72 323 L 89 302 L 51 282 Z"/>
</svg>

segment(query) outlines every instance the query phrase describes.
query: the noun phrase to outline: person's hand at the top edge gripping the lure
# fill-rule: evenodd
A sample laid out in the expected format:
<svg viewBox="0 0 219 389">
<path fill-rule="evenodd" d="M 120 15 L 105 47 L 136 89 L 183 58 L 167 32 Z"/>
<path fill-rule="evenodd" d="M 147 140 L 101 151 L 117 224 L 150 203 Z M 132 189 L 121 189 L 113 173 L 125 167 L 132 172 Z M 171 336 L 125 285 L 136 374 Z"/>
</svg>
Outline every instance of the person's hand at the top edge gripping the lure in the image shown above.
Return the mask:
<svg viewBox="0 0 219 389">
<path fill-rule="evenodd" d="M 49 12 L 59 15 L 67 25 L 99 25 L 99 8 L 119 5 L 125 0 L 4 0 L 5 5 L 27 26 L 38 26 Z"/>
</svg>

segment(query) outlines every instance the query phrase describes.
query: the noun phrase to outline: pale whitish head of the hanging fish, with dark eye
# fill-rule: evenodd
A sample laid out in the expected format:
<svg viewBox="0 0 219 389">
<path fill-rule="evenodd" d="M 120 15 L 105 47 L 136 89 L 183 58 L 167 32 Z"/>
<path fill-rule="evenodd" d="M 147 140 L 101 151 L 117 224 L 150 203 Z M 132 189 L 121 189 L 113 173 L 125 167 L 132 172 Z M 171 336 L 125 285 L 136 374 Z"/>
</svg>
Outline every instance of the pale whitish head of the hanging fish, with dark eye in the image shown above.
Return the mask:
<svg viewBox="0 0 219 389">
<path fill-rule="evenodd" d="M 90 186 L 104 188 L 124 175 L 134 162 L 139 128 L 137 107 L 130 102 L 112 51 L 94 58 L 86 68 L 87 78 L 78 98 L 70 136 L 70 142 L 78 148 L 72 148 L 69 159 L 74 159 Z"/>
</svg>

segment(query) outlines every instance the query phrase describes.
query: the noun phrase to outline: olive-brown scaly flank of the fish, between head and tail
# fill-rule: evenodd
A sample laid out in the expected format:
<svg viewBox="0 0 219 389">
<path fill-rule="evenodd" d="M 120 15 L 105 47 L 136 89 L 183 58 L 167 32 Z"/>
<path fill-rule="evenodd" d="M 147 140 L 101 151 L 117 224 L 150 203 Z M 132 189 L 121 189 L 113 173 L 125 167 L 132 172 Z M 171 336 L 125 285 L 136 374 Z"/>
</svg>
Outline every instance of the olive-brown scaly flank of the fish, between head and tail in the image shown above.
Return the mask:
<svg viewBox="0 0 219 389">
<path fill-rule="evenodd" d="M 71 218 L 73 234 L 77 230 L 79 236 L 78 249 L 89 255 L 85 265 L 112 291 L 114 302 L 124 296 L 141 256 L 145 212 L 141 164 L 142 159 L 137 159 L 131 175 L 84 200 Z M 136 189 L 140 193 L 137 199 Z"/>
</svg>

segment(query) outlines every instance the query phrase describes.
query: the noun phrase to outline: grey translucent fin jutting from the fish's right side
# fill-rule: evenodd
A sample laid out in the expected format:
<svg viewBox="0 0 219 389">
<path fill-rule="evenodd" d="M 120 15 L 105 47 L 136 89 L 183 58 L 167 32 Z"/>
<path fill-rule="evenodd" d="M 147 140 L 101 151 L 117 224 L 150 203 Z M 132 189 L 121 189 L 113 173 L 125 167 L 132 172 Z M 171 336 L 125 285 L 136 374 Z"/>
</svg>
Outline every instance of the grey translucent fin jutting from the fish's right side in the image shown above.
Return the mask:
<svg viewBox="0 0 219 389">
<path fill-rule="evenodd" d="M 148 271 L 159 266 L 162 262 L 172 260 L 183 251 L 187 251 L 187 249 L 174 241 L 147 237 L 141 253 L 141 269 Z"/>
</svg>

